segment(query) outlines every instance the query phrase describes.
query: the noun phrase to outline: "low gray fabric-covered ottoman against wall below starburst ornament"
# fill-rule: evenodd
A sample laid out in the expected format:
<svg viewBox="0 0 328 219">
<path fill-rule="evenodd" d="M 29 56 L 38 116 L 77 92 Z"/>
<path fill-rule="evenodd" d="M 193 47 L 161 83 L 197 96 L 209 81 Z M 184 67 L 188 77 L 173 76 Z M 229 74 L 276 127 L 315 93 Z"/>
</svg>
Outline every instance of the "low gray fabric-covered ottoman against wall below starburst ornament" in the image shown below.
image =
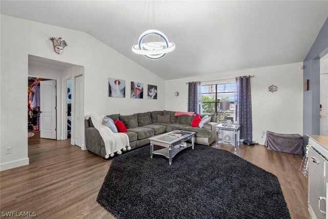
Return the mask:
<svg viewBox="0 0 328 219">
<path fill-rule="evenodd" d="M 273 151 L 303 154 L 303 137 L 299 134 L 279 134 L 267 131 L 264 145 Z"/>
</svg>

